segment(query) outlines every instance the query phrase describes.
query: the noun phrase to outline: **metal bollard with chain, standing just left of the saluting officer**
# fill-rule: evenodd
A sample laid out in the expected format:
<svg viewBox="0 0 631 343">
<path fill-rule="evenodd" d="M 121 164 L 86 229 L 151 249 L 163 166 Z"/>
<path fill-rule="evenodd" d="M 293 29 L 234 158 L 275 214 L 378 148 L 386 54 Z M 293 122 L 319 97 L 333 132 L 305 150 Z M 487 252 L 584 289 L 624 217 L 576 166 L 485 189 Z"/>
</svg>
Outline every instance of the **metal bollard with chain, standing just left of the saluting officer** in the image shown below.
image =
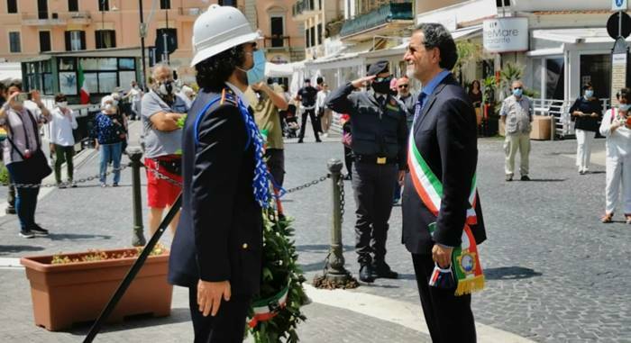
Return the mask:
<svg viewBox="0 0 631 343">
<path fill-rule="evenodd" d="M 334 283 L 346 283 L 351 279 L 351 274 L 344 268 L 344 256 L 342 245 L 342 161 L 337 158 L 329 159 L 326 166 L 331 173 L 331 185 L 333 186 L 333 226 L 331 228 L 331 248 L 326 260 L 325 279 Z"/>
</svg>

